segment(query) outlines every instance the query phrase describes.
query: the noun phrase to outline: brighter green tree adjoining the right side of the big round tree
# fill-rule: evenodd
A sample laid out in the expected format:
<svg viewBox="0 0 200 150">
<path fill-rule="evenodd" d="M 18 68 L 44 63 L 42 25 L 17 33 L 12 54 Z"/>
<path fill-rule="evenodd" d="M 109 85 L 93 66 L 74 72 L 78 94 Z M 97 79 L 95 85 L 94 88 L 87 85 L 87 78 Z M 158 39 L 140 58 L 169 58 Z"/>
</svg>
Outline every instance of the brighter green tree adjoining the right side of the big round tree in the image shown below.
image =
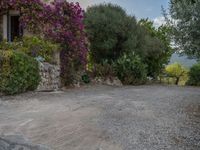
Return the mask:
<svg viewBox="0 0 200 150">
<path fill-rule="evenodd" d="M 156 79 L 173 53 L 169 36 L 171 30 L 166 25 L 155 28 L 153 22 L 148 19 L 140 20 L 139 25 L 144 28 L 144 37 L 138 53 L 147 64 L 148 76 Z"/>
</svg>

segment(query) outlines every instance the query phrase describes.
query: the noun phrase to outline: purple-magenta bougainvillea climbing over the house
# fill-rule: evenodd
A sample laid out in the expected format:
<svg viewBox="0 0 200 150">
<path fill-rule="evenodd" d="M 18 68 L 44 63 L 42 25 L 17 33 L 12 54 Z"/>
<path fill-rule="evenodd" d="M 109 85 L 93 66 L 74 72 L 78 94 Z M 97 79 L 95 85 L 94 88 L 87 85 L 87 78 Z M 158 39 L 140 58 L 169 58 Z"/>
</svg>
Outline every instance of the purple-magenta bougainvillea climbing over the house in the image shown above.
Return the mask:
<svg viewBox="0 0 200 150">
<path fill-rule="evenodd" d="M 79 3 L 65 0 L 43 3 L 41 0 L 0 0 L 0 13 L 8 9 L 20 11 L 20 25 L 33 33 L 60 43 L 61 75 L 69 70 L 69 61 L 86 64 L 87 39 L 84 32 L 84 11 Z M 78 61 L 77 61 L 78 60 Z"/>
</svg>

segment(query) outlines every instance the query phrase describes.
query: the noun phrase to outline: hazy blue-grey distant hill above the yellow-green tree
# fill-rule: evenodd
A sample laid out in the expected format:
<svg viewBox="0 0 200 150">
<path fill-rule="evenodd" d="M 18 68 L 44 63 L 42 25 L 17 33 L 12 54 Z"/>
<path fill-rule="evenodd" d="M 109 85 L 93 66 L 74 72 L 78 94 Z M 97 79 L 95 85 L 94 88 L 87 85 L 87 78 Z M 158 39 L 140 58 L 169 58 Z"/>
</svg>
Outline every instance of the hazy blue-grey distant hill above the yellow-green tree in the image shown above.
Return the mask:
<svg viewBox="0 0 200 150">
<path fill-rule="evenodd" d="M 187 56 L 179 56 L 179 54 L 173 54 L 170 60 L 170 64 L 178 62 L 185 67 L 190 68 L 193 64 L 197 63 L 194 59 L 189 59 Z"/>
</svg>

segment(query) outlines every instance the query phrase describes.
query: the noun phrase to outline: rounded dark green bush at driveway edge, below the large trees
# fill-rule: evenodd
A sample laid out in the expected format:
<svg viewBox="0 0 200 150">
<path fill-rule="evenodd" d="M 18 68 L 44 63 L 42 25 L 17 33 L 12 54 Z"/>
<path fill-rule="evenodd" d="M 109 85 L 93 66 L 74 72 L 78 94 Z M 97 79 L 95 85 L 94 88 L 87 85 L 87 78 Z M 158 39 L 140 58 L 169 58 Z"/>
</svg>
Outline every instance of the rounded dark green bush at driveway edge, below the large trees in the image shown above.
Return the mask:
<svg viewBox="0 0 200 150">
<path fill-rule="evenodd" d="M 146 65 L 134 53 L 124 54 L 114 66 L 116 74 L 123 84 L 138 85 L 145 83 L 147 77 Z"/>
</svg>

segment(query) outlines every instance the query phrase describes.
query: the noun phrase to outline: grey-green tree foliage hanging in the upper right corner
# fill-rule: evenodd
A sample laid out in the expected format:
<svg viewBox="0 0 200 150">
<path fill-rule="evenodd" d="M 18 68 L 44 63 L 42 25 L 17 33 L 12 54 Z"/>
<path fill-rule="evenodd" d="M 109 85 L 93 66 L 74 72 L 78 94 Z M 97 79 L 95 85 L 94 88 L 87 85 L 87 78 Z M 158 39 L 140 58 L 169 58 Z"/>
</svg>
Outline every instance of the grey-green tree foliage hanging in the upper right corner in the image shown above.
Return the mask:
<svg viewBox="0 0 200 150">
<path fill-rule="evenodd" d="M 200 59 L 200 1 L 170 0 L 170 16 L 165 16 L 173 29 L 177 48 L 190 57 Z"/>
</svg>

